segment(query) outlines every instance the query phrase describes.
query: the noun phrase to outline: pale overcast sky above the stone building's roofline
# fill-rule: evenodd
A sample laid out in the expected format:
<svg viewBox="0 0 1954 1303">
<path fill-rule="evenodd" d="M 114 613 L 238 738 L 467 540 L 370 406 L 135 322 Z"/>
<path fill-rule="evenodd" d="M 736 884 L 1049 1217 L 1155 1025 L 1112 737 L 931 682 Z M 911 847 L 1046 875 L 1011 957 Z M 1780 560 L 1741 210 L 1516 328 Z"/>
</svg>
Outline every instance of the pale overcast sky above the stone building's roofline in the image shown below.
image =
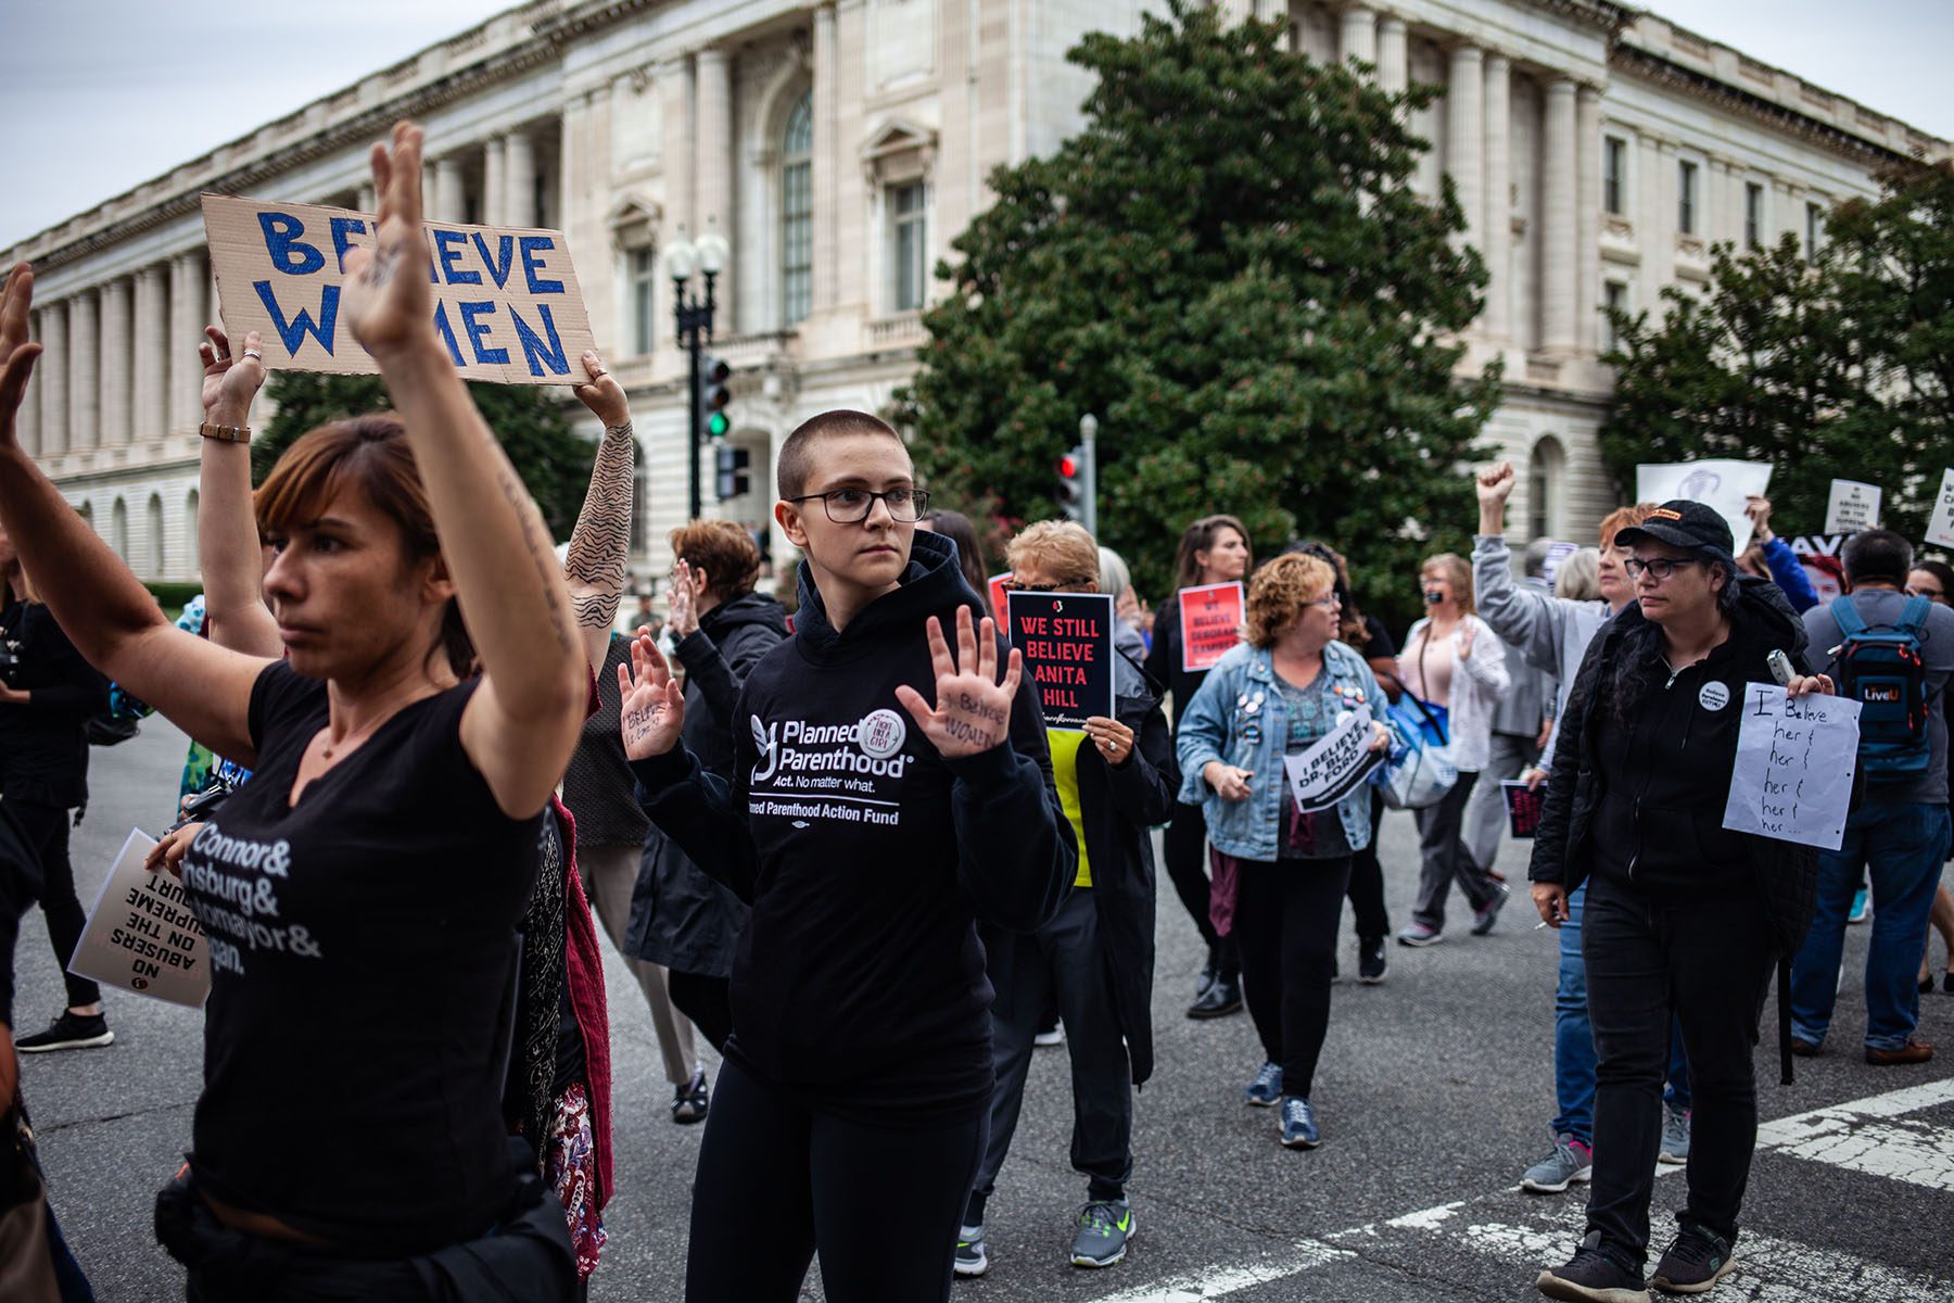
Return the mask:
<svg viewBox="0 0 1954 1303">
<path fill-rule="evenodd" d="M 0 246 L 510 8 L 0 0 Z M 1954 139 L 1950 0 L 1667 0 L 1710 39 Z"/>
</svg>

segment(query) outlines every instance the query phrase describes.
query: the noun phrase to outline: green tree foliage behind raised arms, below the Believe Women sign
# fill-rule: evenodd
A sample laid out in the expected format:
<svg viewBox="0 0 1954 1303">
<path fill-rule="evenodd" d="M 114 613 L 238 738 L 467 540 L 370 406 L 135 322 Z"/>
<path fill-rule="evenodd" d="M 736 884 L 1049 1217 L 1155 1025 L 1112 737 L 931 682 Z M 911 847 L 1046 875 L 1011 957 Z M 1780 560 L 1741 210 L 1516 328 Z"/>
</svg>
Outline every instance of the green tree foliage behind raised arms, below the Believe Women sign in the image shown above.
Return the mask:
<svg viewBox="0 0 1954 1303">
<path fill-rule="evenodd" d="M 279 455 L 307 430 L 348 416 L 393 410 L 387 387 L 377 375 L 276 371 L 268 391 L 277 400 L 277 412 L 264 434 L 252 440 L 256 483 L 264 483 Z M 596 445 L 571 430 L 571 410 L 561 391 L 471 381 L 469 395 L 541 508 L 551 537 L 571 537 L 571 525 L 576 524 L 576 510 L 590 484 Z"/>
</svg>

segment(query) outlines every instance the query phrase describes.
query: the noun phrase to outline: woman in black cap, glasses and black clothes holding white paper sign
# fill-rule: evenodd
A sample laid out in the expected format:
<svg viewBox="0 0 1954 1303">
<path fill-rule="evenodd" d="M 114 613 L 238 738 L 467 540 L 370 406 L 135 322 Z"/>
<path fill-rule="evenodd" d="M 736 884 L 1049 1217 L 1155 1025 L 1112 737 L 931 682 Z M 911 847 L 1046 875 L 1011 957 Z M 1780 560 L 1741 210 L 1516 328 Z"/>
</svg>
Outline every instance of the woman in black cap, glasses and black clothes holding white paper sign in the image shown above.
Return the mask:
<svg viewBox="0 0 1954 1303">
<path fill-rule="evenodd" d="M 1540 1274 L 1550 1299 L 1645 1297 L 1671 1010 L 1694 1112 L 1682 1233 L 1653 1283 L 1700 1293 L 1731 1270 L 1757 1141 L 1751 1045 L 1772 961 L 1788 975 L 1811 922 L 1817 877 L 1809 846 L 1723 826 L 1739 703 L 1749 684 L 1772 682 L 1770 656 L 1804 660 L 1804 623 L 1776 584 L 1739 574 L 1729 525 L 1700 502 L 1665 502 L 1616 543 L 1634 551 L 1624 565 L 1635 604 L 1602 625 L 1581 662 L 1528 873 L 1555 928 L 1587 883 L 1598 1055 L 1587 1235 L 1569 1262 Z M 1792 676 L 1786 692 L 1833 684 Z M 1778 1008 L 1790 1008 L 1782 988 Z"/>
</svg>

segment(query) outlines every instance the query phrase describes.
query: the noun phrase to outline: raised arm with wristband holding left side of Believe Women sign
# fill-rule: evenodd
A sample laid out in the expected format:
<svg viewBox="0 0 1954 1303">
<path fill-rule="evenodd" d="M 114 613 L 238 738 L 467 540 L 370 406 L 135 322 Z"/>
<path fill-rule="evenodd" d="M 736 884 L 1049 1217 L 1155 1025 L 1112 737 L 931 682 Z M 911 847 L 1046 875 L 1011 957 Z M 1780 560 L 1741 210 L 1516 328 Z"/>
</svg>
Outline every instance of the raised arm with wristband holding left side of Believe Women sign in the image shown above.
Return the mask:
<svg viewBox="0 0 1954 1303">
<path fill-rule="evenodd" d="M 231 354 L 231 336 L 205 326 L 203 453 L 197 465 L 197 559 L 203 567 L 203 611 L 211 641 L 250 656 L 283 656 L 277 619 L 264 604 L 264 551 L 250 496 L 250 443 L 209 430 L 250 430 L 250 404 L 264 385 L 258 332 Z"/>
</svg>

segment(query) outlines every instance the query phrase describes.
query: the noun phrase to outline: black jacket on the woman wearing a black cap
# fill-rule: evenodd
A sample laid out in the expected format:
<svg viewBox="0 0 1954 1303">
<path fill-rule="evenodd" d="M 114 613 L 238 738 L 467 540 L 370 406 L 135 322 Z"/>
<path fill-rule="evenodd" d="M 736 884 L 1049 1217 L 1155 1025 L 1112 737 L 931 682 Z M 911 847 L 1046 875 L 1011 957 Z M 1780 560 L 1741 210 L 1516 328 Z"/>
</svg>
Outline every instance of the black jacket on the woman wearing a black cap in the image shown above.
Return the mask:
<svg viewBox="0 0 1954 1303">
<path fill-rule="evenodd" d="M 1688 766 L 1688 774 L 1702 779 L 1696 801 L 1684 803 L 1677 776 L 1665 774 L 1661 779 L 1649 772 L 1628 770 L 1634 785 L 1628 793 L 1610 793 L 1602 778 L 1602 736 L 1616 729 L 1596 727 L 1600 711 L 1614 709 L 1614 666 L 1616 651 L 1632 629 L 1645 623 L 1641 608 L 1630 604 L 1610 619 L 1589 645 L 1567 697 L 1567 709 L 1559 721 L 1559 740 L 1553 750 L 1553 772 L 1548 776 L 1546 801 L 1540 813 L 1540 830 L 1534 836 L 1534 858 L 1528 865 L 1528 879 L 1536 883 L 1559 883 L 1575 891 L 1594 869 L 1596 844 L 1622 828 L 1634 830 L 1634 848 L 1610 846 L 1610 856 L 1628 860 L 1637 852 L 1649 856 L 1651 881 L 1647 887 L 1667 899 L 1690 899 L 1686 877 L 1690 848 L 1700 848 L 1708 860 L 1702 899 L 1718 901 L 1729 895 L 1731 877 L 1727 871 L 1741 863 L 1747 871 L 1747 887 L 1755 891 L 1770 918 L 1772 949 L 1778 955 L 1778 1041 L 1782 1078 L 1790 1082 L 1790 1000 L 1784 987 L 1792 955 L 1805 940 L 1811 926 L 1811 912 L 1817 899 L 1817 850 L 1796 842 L 1755 836 L 1749 832 L 1729 832 L 1723 828 L 1723 805 L 1729 799 L 1729 776 L 1735 768 L 1737 731 L 1747 682 L 1768 684 L 1770 666 L 1764 656 L 1772 649 L 1784 651 L 1800 674 L 1809 674 L 1805 658 L 1805 627 L 1792 611 L 1784 592 L 1761 578 L 1741 576 L 1739 606 L 1731 619 L 1729 639 L 1718 647 L 1704 662 L 1690 666 L 1677 678 L 1671 692 L 1663 690 L 1661 676 L 1649 686 L 1637 709 L 1637 717 L 1628 727 L 1682 729 L 1682 750 L 1694 748 L 1704 756 Z M 1659 668 L 1659 666 L 1651 666 Z M 1688 692 L 1682 694 L 1684 678 Z M 1708 709 L 1702 690 L 1718 682 L 1727 697 L 1725 705 Z M 1714 699 L 1714 694 L 1712 697 Z M 1630 746 L 1630 764 L 1649 758 L 1649 750 Z M 1635 801 L 1643 787 L 1661 787 L 1671 793 L 1669 805 L 1661 809 L 1630 809 L 1622 819 L 1616 811 L 1602 813 L 1610 799 Z M 1682 828 L 1688 822 L 1688 828 Z M 1682 834 L 1688 832 L 1688 838 Z M 1682 854 L 1675 852 L 1682 846 Z M 1634 875 L 1630 875 L 1634 881 Z"/>
</svg>

